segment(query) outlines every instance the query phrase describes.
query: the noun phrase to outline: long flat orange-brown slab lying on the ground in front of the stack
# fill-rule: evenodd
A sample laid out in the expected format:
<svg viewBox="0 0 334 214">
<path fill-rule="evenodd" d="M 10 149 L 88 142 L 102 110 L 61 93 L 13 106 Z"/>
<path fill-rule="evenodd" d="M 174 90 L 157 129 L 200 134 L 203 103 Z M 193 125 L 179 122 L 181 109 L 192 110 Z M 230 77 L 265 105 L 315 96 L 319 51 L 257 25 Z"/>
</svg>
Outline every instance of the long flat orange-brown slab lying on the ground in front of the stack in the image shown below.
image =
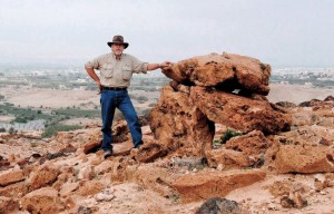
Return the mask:
<svg viewBox="0 0 334 214">
<path fill-rule="evenodd" d="M 194 202 L 203 198 L 224 197 L 230 191 L 240 188 L 264 179 L 266 173 L 259 169 L 200 172 L 195 175 L 183 175 L 173 184 L 183 202 Z"/>
</svg>

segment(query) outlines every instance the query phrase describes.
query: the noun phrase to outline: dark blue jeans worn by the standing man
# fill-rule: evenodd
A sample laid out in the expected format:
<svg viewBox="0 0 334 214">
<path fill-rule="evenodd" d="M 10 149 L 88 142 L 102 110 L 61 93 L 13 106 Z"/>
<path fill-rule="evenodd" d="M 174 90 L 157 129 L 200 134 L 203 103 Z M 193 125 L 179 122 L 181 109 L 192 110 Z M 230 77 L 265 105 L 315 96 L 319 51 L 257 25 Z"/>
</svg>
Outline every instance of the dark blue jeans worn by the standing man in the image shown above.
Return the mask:
<svg viewBox="0 0 334 214">
<path fill-rule="evenodd" d="M 128 123 L 132 136 L 134 147 L 143 144 L 143 134 L 139 119 L 130 100 L 127 90 L 102 90 L 101 93 L 101 114 L 102 114 L 102 146 L 104 150 L 112 150 L 111 125 L 115 109 L 118 108 Z"/>
</svg>

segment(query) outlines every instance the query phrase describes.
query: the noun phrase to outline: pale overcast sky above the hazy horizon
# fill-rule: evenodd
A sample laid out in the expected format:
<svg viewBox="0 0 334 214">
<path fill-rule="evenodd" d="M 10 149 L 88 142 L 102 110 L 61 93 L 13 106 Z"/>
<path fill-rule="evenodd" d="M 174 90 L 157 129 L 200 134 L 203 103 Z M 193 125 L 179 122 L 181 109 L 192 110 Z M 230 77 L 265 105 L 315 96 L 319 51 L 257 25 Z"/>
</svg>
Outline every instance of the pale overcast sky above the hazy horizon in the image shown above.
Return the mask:
<svg viewBox="0 0 334 214">
<path fill-rule="evenodd" d="M 0 0 L 0 64 L 75 64 L 122 35 L 148 62 L 210 52 L 334 67 L 333 0 Z"/>
</svg>

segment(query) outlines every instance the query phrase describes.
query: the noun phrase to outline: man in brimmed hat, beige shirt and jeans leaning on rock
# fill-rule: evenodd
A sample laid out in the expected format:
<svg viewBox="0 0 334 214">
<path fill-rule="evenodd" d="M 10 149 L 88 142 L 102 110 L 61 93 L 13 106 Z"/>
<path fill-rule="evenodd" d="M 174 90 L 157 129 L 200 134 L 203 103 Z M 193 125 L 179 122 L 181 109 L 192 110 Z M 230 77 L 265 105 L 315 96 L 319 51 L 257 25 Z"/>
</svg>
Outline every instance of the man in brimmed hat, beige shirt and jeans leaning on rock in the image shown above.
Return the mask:
<svg viewBox="0 0 334 214">
<path fill-rule="evenodd" d="M 111 125 L 116 108 L 124 114 L 128 123 L 134 147 L 139 148 L 143 145 L 139 119 L 127 91 L 127 88 L 130 86 L 132 72 L 146 74 L 148 70 L 155 70 L 170 65 L 169 61 L 164 61 L 163 64 L 147 64 L 131 55 L 124 54 L 124 50 L 129 43 L 124 41 L 122 36 L 115 36 L 112 41 L 107 42 L 107 45 L 111 48 L 110 54 L 99 56 L 85 65 L 85 69 L 98 85 L 101 93 L 101 148 L 105 150 L 105 158 L 112 155 Z M 100 71 L 100 78 L 95 72 L 95 69 Z"/>
</svg>

